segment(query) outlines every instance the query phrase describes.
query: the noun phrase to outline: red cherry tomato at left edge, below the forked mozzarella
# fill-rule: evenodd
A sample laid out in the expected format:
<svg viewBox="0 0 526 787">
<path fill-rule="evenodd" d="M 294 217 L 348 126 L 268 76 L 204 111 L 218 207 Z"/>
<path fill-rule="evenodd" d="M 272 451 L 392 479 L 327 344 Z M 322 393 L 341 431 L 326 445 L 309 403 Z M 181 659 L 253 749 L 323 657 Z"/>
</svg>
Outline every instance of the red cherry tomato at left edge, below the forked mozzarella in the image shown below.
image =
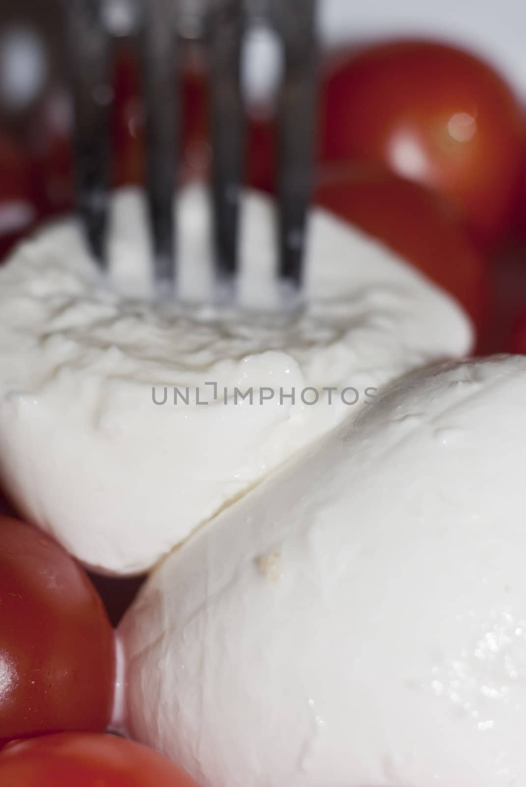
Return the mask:
<svg viewBox="0 0 526 787">
<path fill-rule="evenodd" d="M 0 517 L 0 742 L 105 730 L 114 681 L 112 627 L 86 573 L 39 530 Z"/>
</svg>

